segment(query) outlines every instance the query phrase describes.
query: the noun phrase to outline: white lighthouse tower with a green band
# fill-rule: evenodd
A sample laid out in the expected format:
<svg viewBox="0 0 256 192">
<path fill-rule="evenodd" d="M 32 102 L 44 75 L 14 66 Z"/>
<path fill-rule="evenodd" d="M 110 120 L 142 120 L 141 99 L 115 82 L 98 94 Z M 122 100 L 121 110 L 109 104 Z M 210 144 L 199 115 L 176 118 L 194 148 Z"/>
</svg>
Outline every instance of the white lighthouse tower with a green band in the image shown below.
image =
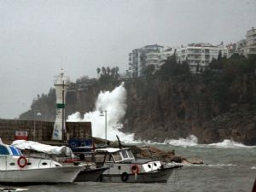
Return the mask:
<svg viewBox="0 0 256 192">
<path fill-rule="evenodd" d="M 69 79 L 64 76 L 63 69 L 61 69 L 61 73 L 55 76 L 56 119 L 52 132 L 52 140 L 62 141 L 65 137 L 65 99 L 68 82 Z"/>
</svg>

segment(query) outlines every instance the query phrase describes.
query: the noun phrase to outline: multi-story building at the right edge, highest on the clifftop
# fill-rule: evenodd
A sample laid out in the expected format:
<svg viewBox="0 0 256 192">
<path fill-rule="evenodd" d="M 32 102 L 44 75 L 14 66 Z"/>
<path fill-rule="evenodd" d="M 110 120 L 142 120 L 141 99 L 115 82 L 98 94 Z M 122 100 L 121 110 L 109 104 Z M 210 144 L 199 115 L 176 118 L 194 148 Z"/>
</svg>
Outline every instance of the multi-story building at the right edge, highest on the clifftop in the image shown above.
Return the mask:
<svg viewBox="0 0 256 192">
<path fill-rule="evenodd" d="M 246 38 L 237 42 L 237 52 L 245 56 L 256 54 L 256 29 L 248 30 Z"/>
</svg>

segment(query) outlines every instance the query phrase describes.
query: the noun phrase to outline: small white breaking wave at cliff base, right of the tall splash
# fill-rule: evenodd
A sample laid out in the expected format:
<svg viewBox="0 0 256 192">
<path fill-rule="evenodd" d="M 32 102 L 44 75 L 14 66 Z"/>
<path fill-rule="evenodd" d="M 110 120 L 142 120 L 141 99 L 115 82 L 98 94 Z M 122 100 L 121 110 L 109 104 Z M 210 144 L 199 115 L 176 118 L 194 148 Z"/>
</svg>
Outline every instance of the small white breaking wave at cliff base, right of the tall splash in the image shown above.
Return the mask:
<svg viewBox="0 0 256 192">
<path fill-rule="evenodd" d="M 198 139 L 194 135 L 190 135 L 189 137 L 186 138 L 166 139 L 164 143 L 173 146 L 189 147 L 198 145 Z"/>
</svg>

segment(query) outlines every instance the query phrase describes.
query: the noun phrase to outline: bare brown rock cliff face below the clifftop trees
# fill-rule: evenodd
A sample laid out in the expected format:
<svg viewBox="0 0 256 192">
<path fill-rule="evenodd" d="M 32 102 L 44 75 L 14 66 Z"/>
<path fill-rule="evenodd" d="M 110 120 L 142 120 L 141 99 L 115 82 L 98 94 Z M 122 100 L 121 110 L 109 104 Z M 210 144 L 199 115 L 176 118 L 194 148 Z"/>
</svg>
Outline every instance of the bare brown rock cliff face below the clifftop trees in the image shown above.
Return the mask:
<svg viewBox="0 0 256 192">
<path fill-rule="evenodd" d="M 255 73 L 243 74 L 228 84 L 219 78 L 207 78 L 184 74 L 166 79 L 126 80 L 123 131 L 155 142 L 193 134 L 199 143 L 233 139 L 256 145 Z M 93 110 L 100 90 L 113 90 L 119 83 L 89 84 L 83 89 L 69 90 L 66 114 Z M 38 107 L 42 114 L 48 113 L 47 119 L 43 115 L 42 120 L 54 120 L 55 109 L 44 106 Z M 22 117 L 26 119 L 26 115 Z"/>
</svg>

